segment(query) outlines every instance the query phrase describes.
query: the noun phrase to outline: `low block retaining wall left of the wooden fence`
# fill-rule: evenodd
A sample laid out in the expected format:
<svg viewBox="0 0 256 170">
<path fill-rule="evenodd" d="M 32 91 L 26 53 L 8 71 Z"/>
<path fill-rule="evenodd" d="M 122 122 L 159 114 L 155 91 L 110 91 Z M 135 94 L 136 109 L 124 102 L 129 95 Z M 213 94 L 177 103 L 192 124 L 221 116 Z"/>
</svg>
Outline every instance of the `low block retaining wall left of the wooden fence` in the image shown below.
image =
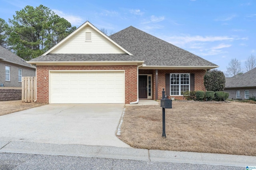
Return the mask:
<svg viewBox="0 0 256 170">
<path fill-rule="evenodd" d="M 0 101 L 21 100 L 21 90 L 0 89 Z"/>
</svg>

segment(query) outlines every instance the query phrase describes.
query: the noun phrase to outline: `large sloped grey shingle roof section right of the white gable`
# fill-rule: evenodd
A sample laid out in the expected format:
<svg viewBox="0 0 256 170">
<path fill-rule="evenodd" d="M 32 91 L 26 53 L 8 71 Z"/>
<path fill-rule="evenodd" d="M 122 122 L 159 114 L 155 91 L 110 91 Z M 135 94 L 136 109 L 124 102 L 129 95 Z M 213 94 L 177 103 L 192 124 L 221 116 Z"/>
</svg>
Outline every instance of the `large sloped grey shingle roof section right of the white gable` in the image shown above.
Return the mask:
<svg viewBox="0 0 256 170">
<path fill-rule="evenodd" d="M 210 61 L 132 26 L 110 35 L 110 38 L 144 60 L 147 66 L 201 66 L 208 69 L 218 67 Z"/>
</svg>

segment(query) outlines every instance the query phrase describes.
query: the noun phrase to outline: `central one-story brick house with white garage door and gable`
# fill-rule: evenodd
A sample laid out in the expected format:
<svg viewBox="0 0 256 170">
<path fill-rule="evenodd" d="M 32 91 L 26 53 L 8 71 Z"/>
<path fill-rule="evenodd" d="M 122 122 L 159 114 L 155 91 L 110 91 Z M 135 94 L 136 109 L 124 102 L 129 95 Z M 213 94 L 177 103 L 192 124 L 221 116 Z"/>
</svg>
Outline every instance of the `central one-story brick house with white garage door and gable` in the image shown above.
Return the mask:
<svg viewBox="0 0 256 170">
<path fill-rule="evenodd" d="M 36 64 L 37 101 L 126 103 L 205 90 L 206 70 L 218 67 L 135 27 L 107 36 L 86 21 Z"/>
</svg>

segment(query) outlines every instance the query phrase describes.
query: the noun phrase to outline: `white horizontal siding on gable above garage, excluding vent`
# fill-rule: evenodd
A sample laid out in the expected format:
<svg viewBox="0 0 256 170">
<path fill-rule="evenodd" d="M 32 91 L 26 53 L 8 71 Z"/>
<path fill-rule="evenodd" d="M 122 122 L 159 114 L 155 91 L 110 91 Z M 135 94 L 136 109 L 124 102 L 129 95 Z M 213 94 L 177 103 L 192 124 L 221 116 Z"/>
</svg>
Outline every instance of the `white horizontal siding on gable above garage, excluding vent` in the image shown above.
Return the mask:
<svg viewBox="0 0 256 170">
<path fill-rule="evenodd" d="M 92 41 L 86 41 L 86 32 L 91 32 Z M 72 37 L 50 51 L 51 54 L 124 54 L 122 49 L 87 25 Z"/>
</svg>

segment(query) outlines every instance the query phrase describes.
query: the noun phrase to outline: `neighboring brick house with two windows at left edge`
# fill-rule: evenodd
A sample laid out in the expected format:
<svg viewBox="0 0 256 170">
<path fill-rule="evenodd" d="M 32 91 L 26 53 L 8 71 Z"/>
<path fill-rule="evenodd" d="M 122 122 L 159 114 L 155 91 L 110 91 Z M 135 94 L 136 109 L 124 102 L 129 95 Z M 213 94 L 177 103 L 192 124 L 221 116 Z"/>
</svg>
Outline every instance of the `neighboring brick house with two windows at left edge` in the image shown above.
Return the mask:
<svg viewBox="0 0 256 170">
<path fill-rule="evenodd" d="M 0 46 L 0 84 L 4 84 L 5 87 L 21 87 L 22 76 L 35 74 L 35 67 Z"/>
</svg>

